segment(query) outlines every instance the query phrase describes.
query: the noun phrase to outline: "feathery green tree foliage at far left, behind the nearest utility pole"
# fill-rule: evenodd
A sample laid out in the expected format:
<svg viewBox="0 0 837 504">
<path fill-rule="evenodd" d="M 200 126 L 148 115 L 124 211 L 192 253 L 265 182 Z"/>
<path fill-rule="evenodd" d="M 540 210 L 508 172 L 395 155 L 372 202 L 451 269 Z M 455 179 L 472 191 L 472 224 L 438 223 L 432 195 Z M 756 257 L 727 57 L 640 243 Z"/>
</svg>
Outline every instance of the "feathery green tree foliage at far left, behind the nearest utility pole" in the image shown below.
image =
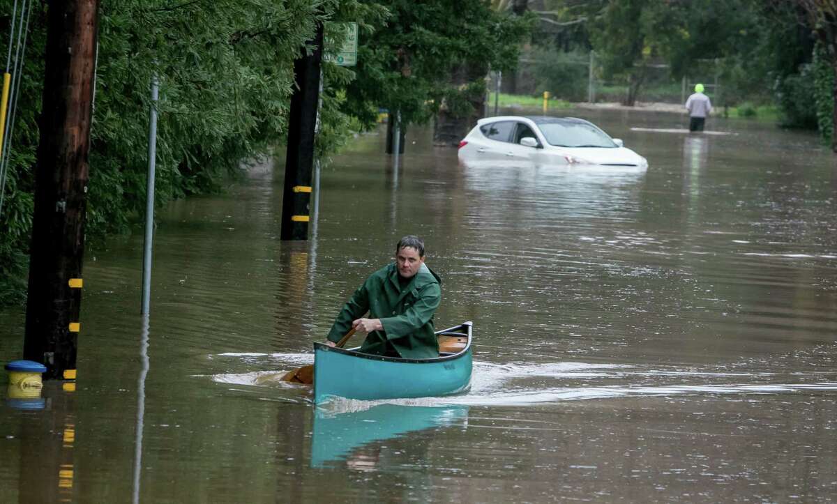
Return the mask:
<svg viewBox="0 0 837 504">
<path fill-rule="evenodd" d="M 47 8 L 35 7 L 0 214 L 0 302 L 21 299 L 26 283 Z M 316 21 L 368 10 L 337 0 L 102 0 L 88 236 L 125 232 L 141 219 L 152 75 L 160 81 L 161 205 L 218 191 L 224 180 L 240 175 L 244 160 L 279 143 L 286 133 L 293 60 Z M 11 0 L 0 0 L 0 12 L 12 12 Z M 328 66 L 326 81 L 347 81 L 345 72 Z M 331 152 L 349 134 L 347 116 L 339 112 L 343 102 L 337 92 L 324 97 L 321 152 Z"/>
</svg>

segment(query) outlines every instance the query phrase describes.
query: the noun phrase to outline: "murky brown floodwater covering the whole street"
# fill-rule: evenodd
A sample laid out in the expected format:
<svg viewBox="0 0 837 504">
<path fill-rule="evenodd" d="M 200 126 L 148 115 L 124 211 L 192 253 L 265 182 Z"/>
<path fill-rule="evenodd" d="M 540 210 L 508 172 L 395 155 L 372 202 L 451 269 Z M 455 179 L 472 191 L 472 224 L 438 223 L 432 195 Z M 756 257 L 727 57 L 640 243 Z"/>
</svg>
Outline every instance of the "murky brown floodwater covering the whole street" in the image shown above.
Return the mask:
<svg viewBox="0 0 837 504">
<path fill-rule="evenodd" d="M 561 115 L 649 168 L 467 166 L 413 128 L 393 170 L 379 129 L 291 243 L 260 165 L 158 213 L 146 328 L 141 233 L 91 245 L 74 391 L 20 409 L 3 382 L 0 502 L 834 499 L 834 155 L 767 122 Z M 277 377 L 404 234 L 437 329 L 474 322 L 470 392 L 315 408 Z M 0 360 L 22 348 L 0 311 Z"/>
</svg>

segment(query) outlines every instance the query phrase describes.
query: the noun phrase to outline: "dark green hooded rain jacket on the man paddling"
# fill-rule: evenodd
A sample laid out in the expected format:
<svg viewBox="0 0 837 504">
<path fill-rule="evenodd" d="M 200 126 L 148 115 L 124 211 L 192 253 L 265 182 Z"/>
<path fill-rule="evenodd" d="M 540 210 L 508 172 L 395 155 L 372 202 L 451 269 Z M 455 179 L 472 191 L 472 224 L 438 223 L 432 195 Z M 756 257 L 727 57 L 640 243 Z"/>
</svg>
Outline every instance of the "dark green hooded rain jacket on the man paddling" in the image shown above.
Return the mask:
<svg viewBox="0 0 837 504">
<path fill-rule="evenodd" d="M 405 358 L 439 357 L 433 314 L 442 296 L 441 281 L 427 265 L 421 265 L 402 287 L 395 263 L 384 266 L 352 294 L 331 326 L 328 339 L 340 341 L 352 328 L 352 321 L 369 311 L 369 318 L 381 319 L 383 331 L 370 332 L 361 352 Z"/>
</svg>

